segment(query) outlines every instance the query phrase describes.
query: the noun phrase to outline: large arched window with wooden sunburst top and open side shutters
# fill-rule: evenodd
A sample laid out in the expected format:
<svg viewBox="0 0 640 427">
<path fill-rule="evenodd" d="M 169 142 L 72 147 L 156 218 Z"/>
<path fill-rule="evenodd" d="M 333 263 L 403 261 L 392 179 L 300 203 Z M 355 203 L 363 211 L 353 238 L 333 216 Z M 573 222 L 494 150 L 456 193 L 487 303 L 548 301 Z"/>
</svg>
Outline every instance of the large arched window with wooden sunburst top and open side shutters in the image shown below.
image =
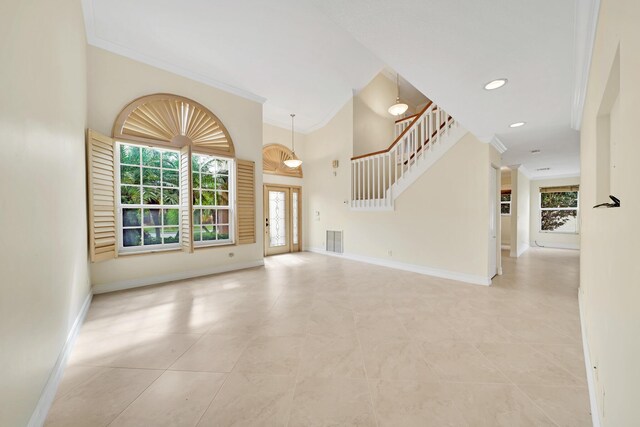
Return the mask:
<svg viewBox="0 0 640 427">
<path fill-rule="evenodd" d="M 203 105 L 138 98 L 113 138 L 89 131 L 88 154 L 92 260 L 255 242 L 254 163 L 234 158 L 229 132 Z"/>
</svg>

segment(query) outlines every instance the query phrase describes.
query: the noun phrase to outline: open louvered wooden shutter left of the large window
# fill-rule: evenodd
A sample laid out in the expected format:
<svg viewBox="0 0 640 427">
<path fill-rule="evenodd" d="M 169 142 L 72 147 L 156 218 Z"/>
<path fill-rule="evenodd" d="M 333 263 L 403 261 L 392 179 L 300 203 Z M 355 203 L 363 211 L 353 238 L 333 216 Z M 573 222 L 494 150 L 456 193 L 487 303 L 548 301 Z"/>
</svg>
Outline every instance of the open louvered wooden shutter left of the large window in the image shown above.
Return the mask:
<svg viewBox="0 0 640 427">
<path fill-rule="evenodd" d="M 113 139 L 87 130 L 89 255 L 92 262 L 118 256 L 115 174 Z"/>
</svg>

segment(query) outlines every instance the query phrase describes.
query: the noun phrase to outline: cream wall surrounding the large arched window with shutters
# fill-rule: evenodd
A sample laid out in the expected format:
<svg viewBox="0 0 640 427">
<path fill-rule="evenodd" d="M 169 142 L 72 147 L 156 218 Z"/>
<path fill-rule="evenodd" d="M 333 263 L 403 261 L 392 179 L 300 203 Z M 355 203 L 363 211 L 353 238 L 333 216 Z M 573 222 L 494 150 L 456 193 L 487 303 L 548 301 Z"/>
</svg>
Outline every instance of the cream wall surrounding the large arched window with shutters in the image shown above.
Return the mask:
<svg viewBox="0 0 640 427">
<path fill-rule="evenodd" d="M 218 116 L 231 134 L 236 156 L 256 162 L 258 230 L 256 244 L 203 248 L 194 254 L 178 251 L 121 256 L 94 263 L 91 265 L 93 285 L 104 290 L 109 288 L 107 284 L 145 284 L 261 262 L 262 105 L 94 47 L 88 48 L 88 71 L 89 127 L 107 135 L 111 134 L 117 114 L 127 103 L 157 92 L 186 96 Z"/>
</svg>

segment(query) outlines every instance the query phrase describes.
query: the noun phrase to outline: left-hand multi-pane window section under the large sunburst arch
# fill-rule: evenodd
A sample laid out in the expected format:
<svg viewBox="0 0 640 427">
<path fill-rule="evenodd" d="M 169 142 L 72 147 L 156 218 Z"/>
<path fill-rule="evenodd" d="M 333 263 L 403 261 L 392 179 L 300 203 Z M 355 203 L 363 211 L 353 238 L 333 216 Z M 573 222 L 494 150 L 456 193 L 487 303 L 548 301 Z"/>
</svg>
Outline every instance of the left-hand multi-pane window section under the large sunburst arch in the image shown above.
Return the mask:
<svg viewBox="0 0 640 427">
<path fill-rule="evenodd" d="M 119 143 L 121 247 L 177 247 L 179 153 Z"/>
</svg>

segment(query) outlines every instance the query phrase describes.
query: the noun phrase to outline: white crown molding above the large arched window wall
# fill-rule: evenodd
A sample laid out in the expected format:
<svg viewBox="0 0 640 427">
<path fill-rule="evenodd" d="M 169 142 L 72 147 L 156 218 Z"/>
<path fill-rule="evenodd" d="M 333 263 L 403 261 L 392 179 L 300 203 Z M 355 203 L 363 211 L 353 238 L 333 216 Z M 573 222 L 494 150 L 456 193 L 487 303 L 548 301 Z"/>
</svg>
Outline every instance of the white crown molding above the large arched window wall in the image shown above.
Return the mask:
<svg viewBox="0 0 640 427">
<path fill-rule="evenodd" d="M 133 59 L 134 61 L 138 61 L 143 64 L 147 64 L 152 67 L 159 68 L 161 70 L 168 71 L 173 74 L 177 74 L 187 79 L 204 83 L 208 86 L 240 96 L 250 101 L 258 102 L 260 104 L 264 104 L 266 102 L 267 100 L 266 98 L 263 98 L 247 90 L 240 89 L 235 86 L 231 86 L 221 81 L 215 80 L 211 77 L 194 73 L 193 71 L 187 70 L 185 68 L 169 64 L 168 62 L 165 62 L 161 59 L 152 58 L 148 55 L 145 55 L 144 53 L 137 52 L 126 46 L 122 46 L 117 43 L 113 43 L 113 42 L 101 39 L 96 35 L 96 32 L 95 32 L 95 20 L 94 20 L 94 11 L 93 11 L 92 3 L 93 3 L 92 0 L 82 0 L 82 10 L 84 14 L 84 23 L 85 23 L 86 33 L 87 33 L 87 44 L 127 57 L 129 59 Z"/>
</svg>

